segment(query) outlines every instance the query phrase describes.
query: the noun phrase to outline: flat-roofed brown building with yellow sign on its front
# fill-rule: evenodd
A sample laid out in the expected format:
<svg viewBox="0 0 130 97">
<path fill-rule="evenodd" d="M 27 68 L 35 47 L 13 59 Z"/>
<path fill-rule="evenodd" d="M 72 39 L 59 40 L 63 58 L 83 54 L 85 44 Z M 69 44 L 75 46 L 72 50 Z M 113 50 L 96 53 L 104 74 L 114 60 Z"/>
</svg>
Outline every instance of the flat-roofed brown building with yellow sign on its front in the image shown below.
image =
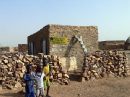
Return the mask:
<svg viewBox="0 0 130 97">
<path fill-rule="evenodd" d="M 80 37 L 81 42 L 72 41 L 74 36 Z M 88 52 L 98 49 L 98 29 L 96 26 L 47 25 L 28 36 L 28 53 L 74 56 L 80 59 L 84 56 L 82 43 Z"/>
</svg>

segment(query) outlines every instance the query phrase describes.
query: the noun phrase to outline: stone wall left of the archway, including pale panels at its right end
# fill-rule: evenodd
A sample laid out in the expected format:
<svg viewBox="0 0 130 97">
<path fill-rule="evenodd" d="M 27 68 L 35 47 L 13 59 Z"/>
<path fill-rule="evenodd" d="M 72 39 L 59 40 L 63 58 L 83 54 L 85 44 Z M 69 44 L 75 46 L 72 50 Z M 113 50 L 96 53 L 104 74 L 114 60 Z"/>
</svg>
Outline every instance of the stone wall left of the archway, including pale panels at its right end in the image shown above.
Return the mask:
<svg viewBox="0 0 130 97">
<path fill-rule="evenodd" d="M 44 55 L 43 57 L 50 59 L 49 63 L 51 63 L 50 66 L 53 75 L 51 77 L 52 81 L 62 85 L 68 84 L 69 75 L 67 71 L 76 69 L 75 58 L 68 58 L 69 64 L 66 65 L 67 60 L 65 57 L 58 57 L 58 59 L 57 56 L 52 58 L 51 55 Z M 26 53 L 0 54 L 0 88 L 14 89 L 25 87 L 23 75 L 26 71 L 27 64 L 31 64 L 33 72 L 36 72 L 36 67 L 39 66 L 40 62 L 39 56 L 28 55 Z"/>
</svg>

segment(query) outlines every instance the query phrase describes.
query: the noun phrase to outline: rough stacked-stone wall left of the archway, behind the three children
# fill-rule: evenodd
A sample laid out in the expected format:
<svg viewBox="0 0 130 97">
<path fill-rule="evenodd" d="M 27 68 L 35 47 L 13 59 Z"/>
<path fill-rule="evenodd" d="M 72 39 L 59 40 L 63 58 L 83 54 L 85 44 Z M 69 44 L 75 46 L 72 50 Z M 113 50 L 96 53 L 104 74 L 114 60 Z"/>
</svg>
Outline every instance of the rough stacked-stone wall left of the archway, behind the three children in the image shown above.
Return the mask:
<svg viewBox="0 0 130 97">
<path fill-rule="evenodd" d="M 48 58 L 50 57 L 48 56 Z M 50 63 L 53 64 L 51 65 L 53 67 L 51 78 L 58 80 L 60 83 L 68 84 L 69 77 L 67 72 L 63 72 L 60 65 L 58 65 L 58 67 L 56 63 Z M 23 87 L 23 75 L 27 64 L 32 64 L 33 71 L 35 72 L 37 65 L 40 64 L 40 58 L 38 56 L 31 56 L 24 53 L 6 53 L 0 55 L 0 87 L 8 89 Z M 56 68 L 60 69 L 57 70 Z M 56 75 L 58 75 L 58 78 L 55 77 Z"/>
</svg>

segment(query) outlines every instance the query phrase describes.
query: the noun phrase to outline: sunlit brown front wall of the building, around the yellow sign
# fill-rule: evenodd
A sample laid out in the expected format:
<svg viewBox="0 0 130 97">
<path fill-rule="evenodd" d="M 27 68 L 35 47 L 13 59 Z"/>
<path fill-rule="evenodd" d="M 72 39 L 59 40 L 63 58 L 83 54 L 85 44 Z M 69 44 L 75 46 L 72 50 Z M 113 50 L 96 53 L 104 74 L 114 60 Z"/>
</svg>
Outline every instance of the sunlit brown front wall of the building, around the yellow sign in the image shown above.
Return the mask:
<svg viewBox="0 0 130 97">
<path fill-rule="evenodd" d="M 95 26 L 62 26 L 62 25 L 50 25 L 50 37 L 66 37 L 69 42 L 74 35 L 82 36 L 85 46 L 88 52 L 93 52 L 98 49 L 98 29 Z M 65 56 L 68 49 L 68 45 L 57 45 L 50 43 L 50 54 Z M 75 43 L 70 52 L 69 57 L 76 57 L 78 59 L 77 64 L 79 66 L 83 63 L 84 53 L 79 44 Z"/>
</svg>

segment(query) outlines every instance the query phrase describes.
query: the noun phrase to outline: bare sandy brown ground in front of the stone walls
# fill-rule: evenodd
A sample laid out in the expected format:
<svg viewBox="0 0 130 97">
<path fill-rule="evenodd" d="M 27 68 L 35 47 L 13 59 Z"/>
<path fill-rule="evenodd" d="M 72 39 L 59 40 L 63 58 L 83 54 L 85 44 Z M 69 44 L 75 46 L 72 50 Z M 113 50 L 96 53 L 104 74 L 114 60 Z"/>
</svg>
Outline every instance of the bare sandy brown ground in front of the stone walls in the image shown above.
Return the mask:
<svg viewBox="0 0 130 97">
<path fill-rule="evenodd" d="M 130 52 L 127 52 L 130 63 Z M 24 97 L 16 90 L 0 90 L 0 97 Z M 88 82 L 72 79 L 70 85 L 52 83 L 51 97 L 130 97 L 130 77 L 103 78 Z"/>
</svg>

